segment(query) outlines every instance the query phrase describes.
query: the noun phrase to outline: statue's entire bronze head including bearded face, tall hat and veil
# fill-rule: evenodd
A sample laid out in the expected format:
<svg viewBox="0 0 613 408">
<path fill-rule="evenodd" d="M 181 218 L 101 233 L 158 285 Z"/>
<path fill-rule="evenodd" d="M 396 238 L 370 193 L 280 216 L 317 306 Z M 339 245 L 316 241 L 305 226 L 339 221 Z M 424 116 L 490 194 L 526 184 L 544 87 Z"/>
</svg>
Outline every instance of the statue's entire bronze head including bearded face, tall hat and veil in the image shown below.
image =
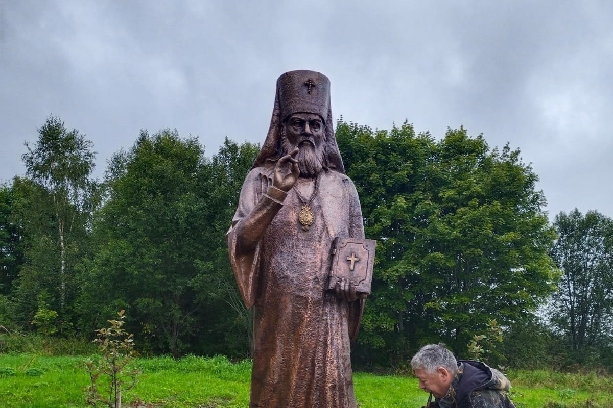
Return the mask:
<svg viewBox="0 0 613 408">
<path fill-rule="evenodd" d="M 322 73 L 290 71 L 278 78 L 270 129 L 254 167 L 294 147 L 299 148 L 302 176 L 315 176 L 323 168 L 345 172 L 332 127 L 330 80 Z"/>
</svg>

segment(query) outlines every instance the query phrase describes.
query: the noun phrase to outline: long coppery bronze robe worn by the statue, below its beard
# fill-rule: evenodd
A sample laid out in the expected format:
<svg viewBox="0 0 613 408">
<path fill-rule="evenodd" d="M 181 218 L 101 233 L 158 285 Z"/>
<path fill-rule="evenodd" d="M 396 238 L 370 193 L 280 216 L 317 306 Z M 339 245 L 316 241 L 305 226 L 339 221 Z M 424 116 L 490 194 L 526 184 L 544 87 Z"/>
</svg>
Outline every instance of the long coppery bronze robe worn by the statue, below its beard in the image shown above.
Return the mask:
<svg viewBox="0 0 613 408">
<path fill-rule="evenodd" d="M 345 174 L 322 171 L 314 223 L 304 231 L 294 190 L 283 202 L 266 194 L 272 170 L 249 172 L 227 233 L 235 278 L 246 306 L 254 306 L 250 407 L 355 408 L 349 343 L 364 301 L 345 302 L 326 287 L 333 239 L 364 238 L 356 188 Z M 297 187 L 307 183 L 300 178 Z M 257 247 L 243 253 L 241 221 L 260 200 L 279 210 Z"/>
</svg>

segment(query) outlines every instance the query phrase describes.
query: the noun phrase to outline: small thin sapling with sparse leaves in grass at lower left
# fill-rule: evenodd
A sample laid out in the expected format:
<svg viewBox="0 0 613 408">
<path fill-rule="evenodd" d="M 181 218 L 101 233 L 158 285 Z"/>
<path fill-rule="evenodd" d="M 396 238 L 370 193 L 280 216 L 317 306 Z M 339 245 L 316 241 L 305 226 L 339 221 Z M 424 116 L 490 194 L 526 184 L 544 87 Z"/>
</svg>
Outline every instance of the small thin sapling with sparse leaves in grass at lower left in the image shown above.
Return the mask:
<svg viewBox="0 0 613 408">
<path fill-rule="evenodd" d="M 131 366 L 134 363 L 134 335 L 123 328 L 124 310 L 117 314 L 119 320 L 110 320 L 110 327 L 96 330 L 94 343 L 99 344 L 102 358 L 96 363 L 93 360 L 85 362 L 91 380 L 86 401 L 93 407 L 101 402 L 112 408 L 121 408 L 121 393 L 134 387 L 140 373 Z M 109 390 L 103 395 L 101 390 L 105 381 Z"/>
</svg>

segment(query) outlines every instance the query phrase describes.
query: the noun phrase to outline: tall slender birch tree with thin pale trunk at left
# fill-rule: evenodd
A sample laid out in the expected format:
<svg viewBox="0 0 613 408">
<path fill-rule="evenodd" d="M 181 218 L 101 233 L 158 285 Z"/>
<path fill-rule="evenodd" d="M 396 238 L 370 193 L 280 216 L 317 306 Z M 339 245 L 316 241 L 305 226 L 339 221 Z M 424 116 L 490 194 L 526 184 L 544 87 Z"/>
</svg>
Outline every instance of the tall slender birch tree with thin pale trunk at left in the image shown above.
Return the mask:
<svg viewBox="0 0 613 408">
<path fill-rule="evenodd" d="M 10 220 L 20 228 L 23 262 L 13 281 L 15 319 L 27 325 L 44 297 L 58 311 L 59 334 L 72 332 L 72 305 L 79 287 L 75 278 L 88 256 L 91 216 L 97 182 L 92 180 L 93 145 L 58 117 L 38 129 L 36 143 L 21 155 L 26 177 L 12 185 Z"/>
</svg>

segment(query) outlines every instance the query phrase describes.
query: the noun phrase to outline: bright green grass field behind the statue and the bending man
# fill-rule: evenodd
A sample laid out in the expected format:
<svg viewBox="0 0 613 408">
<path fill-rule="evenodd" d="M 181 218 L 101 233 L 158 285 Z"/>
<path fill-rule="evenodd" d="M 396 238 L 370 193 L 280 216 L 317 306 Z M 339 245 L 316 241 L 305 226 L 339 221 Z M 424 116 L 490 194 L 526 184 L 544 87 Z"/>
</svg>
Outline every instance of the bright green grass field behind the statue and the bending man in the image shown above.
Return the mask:
<svg viewBox="0 0 613 408">
<path fill-rule="evenodd" d="M 86 407 L 85 360 L 0 354 L 0 407 Z M 139 358 L 135 365 L 142 374 L 124 395 L 126 407 L 137 406 L 137 401 L 164 408 L 248 407 L 250 362 L 190 356 Z M 509 377 L 518 408 L 613 407 L 611 377 L 549 371 L 510 371 Z M 413 377 L 355 373 L 354 381 L 360 408 L 419 408 L 427 400 Z"/>
</svg>

